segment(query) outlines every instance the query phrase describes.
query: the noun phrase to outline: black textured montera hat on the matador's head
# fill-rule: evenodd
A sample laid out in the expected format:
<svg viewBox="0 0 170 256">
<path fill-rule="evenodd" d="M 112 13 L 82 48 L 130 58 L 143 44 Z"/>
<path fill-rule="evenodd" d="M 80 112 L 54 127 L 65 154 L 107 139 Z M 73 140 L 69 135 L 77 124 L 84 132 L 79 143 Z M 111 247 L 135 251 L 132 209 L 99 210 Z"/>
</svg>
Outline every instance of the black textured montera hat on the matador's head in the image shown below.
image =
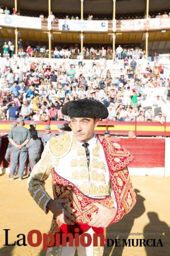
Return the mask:
<svg viewBox="0 0 170 256">
<path fill-rule="evenodd" d="M 64 104 L 62 114 L 70 117 L 108 117 L 107 108 L 99 101 L 92 99 L 78 99 Z"/>
</svg>

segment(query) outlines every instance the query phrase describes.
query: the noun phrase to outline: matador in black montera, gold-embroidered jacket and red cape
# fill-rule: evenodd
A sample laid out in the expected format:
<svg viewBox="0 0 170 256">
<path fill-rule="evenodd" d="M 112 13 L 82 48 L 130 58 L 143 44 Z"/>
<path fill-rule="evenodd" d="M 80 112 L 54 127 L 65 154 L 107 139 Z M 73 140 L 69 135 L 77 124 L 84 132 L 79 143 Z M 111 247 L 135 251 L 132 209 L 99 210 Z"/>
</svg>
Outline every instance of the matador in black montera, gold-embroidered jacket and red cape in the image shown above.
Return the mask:
<svg viewBox="0 0 170 256">
<path fill-rule="evenodd" d="M 103 255 L 104 247 L 93 246 L 93 234 L 104 234 L 106 227 L 119 221 L 136 202 L 127 165 L 134 160 L 125 148 L 96 136 L 99 119 L 108 116 L 107 108 L 91 99 L 66 103 L 62 113 L 70 116 L 71 134 L 47 142 L 40 161 L 28 180 L 31 196 L 48 213 L 54 214 L 50 233 L 86 232 L 92 243 L 78 246 L 78 255 Z M 52 173 L 54 200 L 45 192 L 45 180 Z M 75 246 L 55 246 L 48 256 L 74 255 Z"/>
</svg>

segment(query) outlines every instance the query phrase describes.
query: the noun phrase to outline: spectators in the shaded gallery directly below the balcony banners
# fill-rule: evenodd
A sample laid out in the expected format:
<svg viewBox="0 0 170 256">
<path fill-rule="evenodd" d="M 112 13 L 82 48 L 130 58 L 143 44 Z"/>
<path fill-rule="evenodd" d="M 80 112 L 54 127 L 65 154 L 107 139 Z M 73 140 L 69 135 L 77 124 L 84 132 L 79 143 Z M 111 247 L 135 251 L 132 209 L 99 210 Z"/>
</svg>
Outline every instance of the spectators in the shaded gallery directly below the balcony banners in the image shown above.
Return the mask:
<svg viewBox="0 0 170 256">
<path fill-rule="evenodd" d="M 56 45 L 54 49 L 52 49 L 52 57 L 54 59 L 70 59 L 73 57 L 74 53 L 80 53 L 80 46 L 78 44 L 68 45 Z M 12 57 L 14 54 L 15 46 L 11 41 L 4 42 L 3 45 L 3 57 Z M 47 46 L 45 44 L 31 44 L 29 45 L 27 42 L 23 42 L 20 38 L 18 41 L 18 57 L 25 58 L 32 57 L 33 54 L 39 53 L 48 53 Z M 105 46 L 84 46 L 82 56 L 86 57 L 106 57 L 106 55 L 112 54 L 111 45 Z M 115 50 L 115 61 L 121 59 L 142 59 L 145 57 L 145 51 L 142 50 L 141 47 L 136 45 L 134 48 L 130 46 L 121 46 L 119 45 Z M 126 65 L 126 60 L 124 60 L 124 64 Z"/>
</svg>

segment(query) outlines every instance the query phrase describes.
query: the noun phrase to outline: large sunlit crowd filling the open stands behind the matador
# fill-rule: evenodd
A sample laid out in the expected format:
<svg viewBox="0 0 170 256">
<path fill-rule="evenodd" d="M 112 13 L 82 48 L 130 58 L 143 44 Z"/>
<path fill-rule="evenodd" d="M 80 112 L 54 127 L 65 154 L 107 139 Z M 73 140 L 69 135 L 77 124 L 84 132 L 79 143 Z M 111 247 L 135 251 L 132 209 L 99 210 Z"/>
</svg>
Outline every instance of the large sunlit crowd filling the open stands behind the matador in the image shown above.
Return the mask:
<svg viewBox="0 0 170 256">
<path fill-rule="evenodd" d="M 45 64 L 44 59 L 26 56 L 24 65 L 11 64 L 8 57 L 0 69 L 0 119 L 69 121 L 61 113 L 62 106 L 72 99 L 93 99 L 102 102 L 110 121 L 157 121 L 170 118 L 170 81 L 163 65 L 141 64 L 128 59 L 118 75 L 111 75 L 107 60 L 91 60 L 85 72 L 82 59 L 71 59 L 62 65 Z M 124 61 L 123 61 L 124 62 Z"/>
</svg>

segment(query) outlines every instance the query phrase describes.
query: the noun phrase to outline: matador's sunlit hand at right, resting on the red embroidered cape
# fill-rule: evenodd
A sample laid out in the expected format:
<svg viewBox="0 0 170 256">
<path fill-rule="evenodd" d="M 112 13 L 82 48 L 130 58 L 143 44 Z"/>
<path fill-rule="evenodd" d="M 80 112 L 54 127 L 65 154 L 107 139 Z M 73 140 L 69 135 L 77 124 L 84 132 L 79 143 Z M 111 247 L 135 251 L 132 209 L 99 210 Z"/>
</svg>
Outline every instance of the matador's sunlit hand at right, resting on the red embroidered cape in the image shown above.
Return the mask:
<svg viewBox="0 0 170 256">
<path fill-rule="evenodd" d="M 99 211 L 88 225 L 92 227 L 108 227 L 116 215 L 116 208 L 108 208 L 99 203 L 94 204 L 99 208 Z"/>
</svg>

